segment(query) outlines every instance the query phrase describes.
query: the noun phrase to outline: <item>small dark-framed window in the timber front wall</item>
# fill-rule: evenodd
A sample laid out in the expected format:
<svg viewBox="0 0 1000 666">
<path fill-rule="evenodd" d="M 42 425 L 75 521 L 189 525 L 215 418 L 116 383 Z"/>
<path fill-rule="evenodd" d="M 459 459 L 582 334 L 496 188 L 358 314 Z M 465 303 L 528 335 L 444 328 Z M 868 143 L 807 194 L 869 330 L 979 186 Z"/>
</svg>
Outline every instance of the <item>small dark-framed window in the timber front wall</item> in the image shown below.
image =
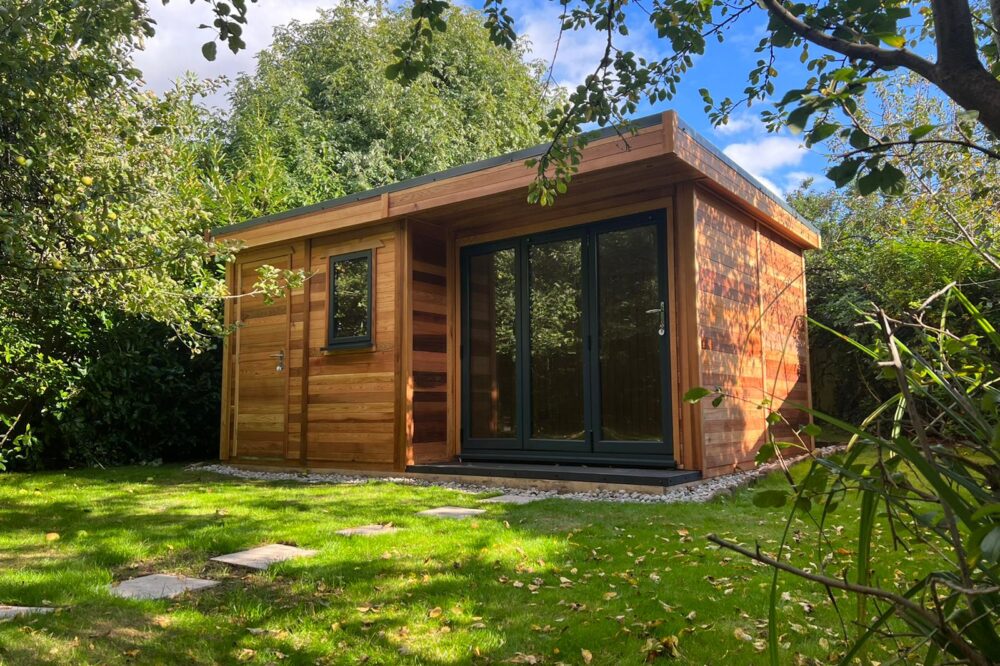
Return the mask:
<svg viewBox="0 0 1000 666">
<path fill-rule="evenodd" d="M 326 348 L 372 343 L 372 251 L 330 257 L 330 302 Z"/>
</svg>

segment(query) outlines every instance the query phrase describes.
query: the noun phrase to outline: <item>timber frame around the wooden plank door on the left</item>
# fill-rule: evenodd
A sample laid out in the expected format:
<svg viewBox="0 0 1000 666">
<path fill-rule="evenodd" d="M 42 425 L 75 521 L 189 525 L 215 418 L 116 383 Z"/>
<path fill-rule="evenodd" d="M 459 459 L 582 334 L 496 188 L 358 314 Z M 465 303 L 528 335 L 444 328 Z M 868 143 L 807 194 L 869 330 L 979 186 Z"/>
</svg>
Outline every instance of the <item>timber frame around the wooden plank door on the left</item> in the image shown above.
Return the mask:
<svg viewBox="0 0 1000 666">
<path fill-rule="evenodd" d="M 244 285 L 243 285 L 243 268 L 247 264 L 259 264 L 261 266 L 271 265 L 278 268 L 284 267 L 285 269 L 292 268 L 292 254 L 293 250 L 291 248 L 272 248 L 270 250 L 260 250 L 254 252 L 245 257 L 237 257 L 236 262 L 233 264 L 233 285 L 235 287 L 235 294 L 238 296 L 243 295 Z M 243 456 L 242 459 L 261 459 L 261 460 L 285 460 L 288 457 L 288 429 L 289 429 L 289 398 L 291 395 L 291 349 L 289 345 L 291 344 L 291 325 L 292 325 L 292 298 L 291 290 L 287 287 L 285 288 L 284 297 L 281 299 L 285 303 L 285 325 L 283 327 L 284 338 L 281 340 L 281 349 L 285 352 L 285 381 L 284 381 L 284 399 L 282 402 L 282 414 L 284 416 L 285 427 L 281 432 L 281 456 L 275 456 L 274 458 L 270 456 Z M 233 309 L 232 309 L 232 323 L 234 325 L 238 324 L 243 316 L 243 299 L 234 299 Z M 239 452 L 239 416 L 240 416 L 240 347 L 242 342 L 242 330 L 243 327 L 237 326 L 232 333 L 232 364 L 231 364 L 231 376 L 232 376 L 232 416 L 230 418 L 230 433 L 229 433 L 229 458 L 241 459 Z"/>
</svg>

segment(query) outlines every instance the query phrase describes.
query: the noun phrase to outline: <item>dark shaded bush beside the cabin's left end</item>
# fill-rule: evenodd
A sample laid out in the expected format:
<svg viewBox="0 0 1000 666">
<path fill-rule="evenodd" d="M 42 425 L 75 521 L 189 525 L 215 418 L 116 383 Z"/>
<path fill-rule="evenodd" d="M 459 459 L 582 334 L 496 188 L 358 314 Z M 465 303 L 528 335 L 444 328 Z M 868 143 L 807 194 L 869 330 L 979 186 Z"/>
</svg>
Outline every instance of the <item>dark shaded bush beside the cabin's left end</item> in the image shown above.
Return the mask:
<svg viewBox="0 0 1000 666">
<path fill-rule="evenodd" d="M 191 354 L 163 324 L 117 315 L 88 341 L 85 374 L 42 420 L 35 466 L 203 458 L 218 444 L 218 349 Z"/>
</svg>

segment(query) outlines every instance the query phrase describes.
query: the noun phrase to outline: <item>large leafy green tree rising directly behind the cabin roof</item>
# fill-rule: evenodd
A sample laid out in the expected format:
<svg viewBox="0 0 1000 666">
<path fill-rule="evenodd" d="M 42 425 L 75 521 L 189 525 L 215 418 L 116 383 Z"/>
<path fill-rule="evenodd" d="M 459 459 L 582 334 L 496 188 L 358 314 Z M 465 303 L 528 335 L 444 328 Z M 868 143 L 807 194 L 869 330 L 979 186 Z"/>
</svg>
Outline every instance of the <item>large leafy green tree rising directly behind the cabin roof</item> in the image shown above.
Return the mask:
<svg viewBox="0 0 1000 666">
<path fill-rule="evenodd" d="M 275 31 L 232 95 L 219 178 L 223 219 L 242 221 L 538 143 L 551 106 L 524 46 L 492 44 L 482 17 L 448 13 L 447 33 L 407 85 L 384 70 L 405 14 L 344 3 Z"/>
</svg>

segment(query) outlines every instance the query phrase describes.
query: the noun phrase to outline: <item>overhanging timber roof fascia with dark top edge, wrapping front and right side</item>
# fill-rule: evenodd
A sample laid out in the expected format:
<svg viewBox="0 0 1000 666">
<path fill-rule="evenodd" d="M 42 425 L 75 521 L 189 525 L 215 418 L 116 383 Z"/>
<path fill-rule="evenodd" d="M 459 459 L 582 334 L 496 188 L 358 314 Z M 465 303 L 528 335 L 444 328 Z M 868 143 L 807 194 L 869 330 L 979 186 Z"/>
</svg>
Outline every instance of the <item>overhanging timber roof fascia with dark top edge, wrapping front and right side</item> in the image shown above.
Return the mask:
<svg viewBox="0 0 1000 666">
<path fill-rule="evenodd" d="M 737 204 L 782 236 L 805 248 L 817 248 L 819 232 L 785 201 L 726 157 L 684 123 L 673 111 L 632 121 L 631 132 L 607 128 L 592 135 L 583 150 L 579 176 L 574 184 L 639 165 L 673 182 L 695 180 Z M 311 206 L 255 218 L 212 230 L 219 240 L 239 240 L 255 247 L 292 238 L 368 226 L 407 216 L 448 215 L 457 207 L 505 199 L 521 192 L 536 176 L 525 161 L 543 154 L 548 144 L 533 146 L 500 157 L 465 164 L 419 178 L 385 185 Z M 649 169 L 647 169 L 649 170 Z M 557 200 L 558 204 L 558 200 Z"/>
</svg>

